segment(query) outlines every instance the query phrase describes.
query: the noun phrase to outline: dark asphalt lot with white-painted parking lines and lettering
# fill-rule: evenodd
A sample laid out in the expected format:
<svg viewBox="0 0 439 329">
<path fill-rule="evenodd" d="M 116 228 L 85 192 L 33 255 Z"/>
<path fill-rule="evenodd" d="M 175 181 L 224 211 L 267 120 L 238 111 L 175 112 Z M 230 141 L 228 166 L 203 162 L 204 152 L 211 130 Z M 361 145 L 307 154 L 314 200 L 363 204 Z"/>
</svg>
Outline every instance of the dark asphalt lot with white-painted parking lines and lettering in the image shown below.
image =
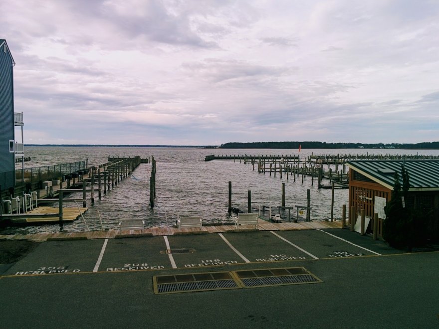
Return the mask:
<svg viewBox="0 0 439 329">
<path fill-rule="evenodd" d="M 237 278 L 284 268 L 315 280 Z M 0 269 L 1 328 L 439 328 L 438 252 L 341 229 L 50 241 Z M 236 287 L 154 284 L 224 273 Z"/>
</svg>

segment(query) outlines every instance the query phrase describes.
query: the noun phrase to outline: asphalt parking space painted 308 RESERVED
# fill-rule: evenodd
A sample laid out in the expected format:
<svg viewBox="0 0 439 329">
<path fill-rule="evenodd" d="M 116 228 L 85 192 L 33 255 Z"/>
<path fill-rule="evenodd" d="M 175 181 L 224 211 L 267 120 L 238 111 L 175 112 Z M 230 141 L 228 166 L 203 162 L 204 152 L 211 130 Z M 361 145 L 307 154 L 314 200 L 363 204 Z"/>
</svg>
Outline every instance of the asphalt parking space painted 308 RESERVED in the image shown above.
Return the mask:
<svg viewBox="0 0 439 329">
<path fill-rule="evenodd" d="M 5 274 L 19 276 L 91 272 L 103 242 L 103 240 L 44 242 L 14 264 Z"/>
</svg>

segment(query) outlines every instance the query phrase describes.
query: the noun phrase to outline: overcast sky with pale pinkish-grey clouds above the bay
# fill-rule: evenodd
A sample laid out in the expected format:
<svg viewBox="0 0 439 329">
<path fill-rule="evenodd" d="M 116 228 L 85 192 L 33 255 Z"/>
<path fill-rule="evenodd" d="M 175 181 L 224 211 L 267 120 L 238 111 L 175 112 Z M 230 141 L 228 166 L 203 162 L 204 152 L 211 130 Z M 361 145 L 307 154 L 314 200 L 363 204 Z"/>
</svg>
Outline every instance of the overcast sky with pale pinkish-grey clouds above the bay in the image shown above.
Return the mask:
<svg viewBox="0 0 439 329">
<path fill-rule="evenodd" d="M 439 140 L 438 0 L 1 1 L 25 144 Z"/>
</svg>

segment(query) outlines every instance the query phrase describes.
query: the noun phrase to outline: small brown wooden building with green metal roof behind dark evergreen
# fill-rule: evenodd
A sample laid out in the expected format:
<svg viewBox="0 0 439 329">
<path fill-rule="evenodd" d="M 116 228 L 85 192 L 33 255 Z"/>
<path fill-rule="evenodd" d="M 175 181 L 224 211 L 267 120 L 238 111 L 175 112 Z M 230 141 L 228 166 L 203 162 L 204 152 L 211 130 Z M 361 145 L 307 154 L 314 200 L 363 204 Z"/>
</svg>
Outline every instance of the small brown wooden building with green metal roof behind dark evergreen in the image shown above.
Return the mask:
<svg viewBox="0 0 439 329">
<path fill-rule="evenodd" d="M 425 225 L 433 238 L 439 238 L 439 160 L 353 160 L 349 165 L 349 212 L 354 208 L 355 217 L 365 210 L 366 217 L 380 213 L 378 236 L 382 237 L 383 206 L 392 198 L 395 172 L 407 169 L 410 189 L 405 205 L 425 213 Z M 378 211 L 377 211 L 378 208 Z M 349 213 L 349 218 L 352 214 Z M 372 221 L 371 221 L 372 222 Z M 369 224 L 371 227 L 371 224 Z"/>
</svg>

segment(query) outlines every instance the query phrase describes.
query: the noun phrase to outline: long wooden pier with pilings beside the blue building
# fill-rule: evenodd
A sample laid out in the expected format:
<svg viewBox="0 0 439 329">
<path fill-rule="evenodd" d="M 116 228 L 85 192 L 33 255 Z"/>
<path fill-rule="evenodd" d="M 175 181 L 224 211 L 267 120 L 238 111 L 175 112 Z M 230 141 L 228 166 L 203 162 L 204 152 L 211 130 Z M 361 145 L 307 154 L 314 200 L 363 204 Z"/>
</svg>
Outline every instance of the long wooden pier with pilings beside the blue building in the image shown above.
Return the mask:
<svg viewBox="0 0 439 329">
<path fill-rule="evenodd" d="M 95 195 L 101 198 L 110 189 L 129 177 L 131 172 L 142 163 L 142 159 L 111 158 L 107 163 L 93 165 L 71 172 L 61 177 L 39 182 L 34 190 L 22 191 L 17 195 L 5 195 L 1 198 L 0 222 L 38 223 L 74 221 L 82 216 L 87 208 L 87 200 L 93 204 Z M 147 163 L 147 162 L 143 162 Z M 31 188 L 32 184 L 28 187 Z M 66 198 L 67 193 L 82 192 L 81 197 Z M 21 194 L 21 195 L 20 195 Z M 89 197 L 87 197 L 89 195 Z M 58 202 L 58 207 L 45 207 L 43 204 Z M 65 202 L 74 202 L 76 207 L 64 207 Z M 78 203 L 82 202 L 82 207 Z"/>
</svg>

